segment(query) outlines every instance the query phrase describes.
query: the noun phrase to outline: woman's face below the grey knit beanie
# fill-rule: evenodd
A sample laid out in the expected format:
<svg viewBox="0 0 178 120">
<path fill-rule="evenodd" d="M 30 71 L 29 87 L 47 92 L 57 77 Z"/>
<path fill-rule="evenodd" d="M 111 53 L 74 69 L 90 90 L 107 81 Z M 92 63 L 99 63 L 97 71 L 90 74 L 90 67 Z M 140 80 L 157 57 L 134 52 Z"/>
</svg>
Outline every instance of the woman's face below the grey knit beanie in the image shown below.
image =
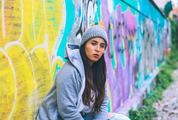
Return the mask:
<svg viewBox="0 0 178 120">
<path fill-rule="evenodd" d="M 85 53 L 91 64 L 101 58 L 105 52 L 105 48 L 105 41 L 99 37 L 92 38 L 85 44 Z"/>
</svg>

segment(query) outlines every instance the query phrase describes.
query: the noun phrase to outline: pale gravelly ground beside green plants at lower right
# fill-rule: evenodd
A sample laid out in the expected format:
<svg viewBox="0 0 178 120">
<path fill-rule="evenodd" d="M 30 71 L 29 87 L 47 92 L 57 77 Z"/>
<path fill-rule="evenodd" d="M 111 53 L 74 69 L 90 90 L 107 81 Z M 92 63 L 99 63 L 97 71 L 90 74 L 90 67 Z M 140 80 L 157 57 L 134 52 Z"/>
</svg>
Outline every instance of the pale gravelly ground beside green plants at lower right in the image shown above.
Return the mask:
<svg viewBox="0 0 178 120">
<path fill-rule="evenodd" d="M 157 117 L 153 120 L 178 120 L 178 69 L 172 74 L 173 83 L 163 92 L 163 99 L 153 104 Z"/>
</svg>

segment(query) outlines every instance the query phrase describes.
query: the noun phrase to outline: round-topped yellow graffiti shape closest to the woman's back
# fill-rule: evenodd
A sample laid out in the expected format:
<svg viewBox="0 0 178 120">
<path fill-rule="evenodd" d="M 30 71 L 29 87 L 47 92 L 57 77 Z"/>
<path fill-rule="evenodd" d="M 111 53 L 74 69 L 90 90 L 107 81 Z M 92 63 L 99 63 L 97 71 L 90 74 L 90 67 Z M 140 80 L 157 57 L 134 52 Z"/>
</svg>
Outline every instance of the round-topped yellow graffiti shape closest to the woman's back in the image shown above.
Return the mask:
<svg viewBox="0 0 178 120">
<path fill-rule="evenodd" d="M 46 95 L 53 83 L 51 65 L 47 51 L 43 47 L 34 49 L 31 52 L 30 58 L 34 66 L 37 81 L 38 99 L 36 101 L 38 102 L 37 105 L 39 105 L 43 96 Z"/>
</svg>

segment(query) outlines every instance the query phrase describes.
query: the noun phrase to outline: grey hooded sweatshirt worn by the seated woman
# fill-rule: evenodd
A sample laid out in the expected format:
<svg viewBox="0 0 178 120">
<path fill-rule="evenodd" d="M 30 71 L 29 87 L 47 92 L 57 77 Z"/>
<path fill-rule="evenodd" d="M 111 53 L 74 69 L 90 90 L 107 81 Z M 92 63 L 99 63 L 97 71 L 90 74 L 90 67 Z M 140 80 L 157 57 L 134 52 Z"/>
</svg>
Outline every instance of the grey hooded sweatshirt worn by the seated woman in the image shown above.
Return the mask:
<svg viewBox="0 0 178 120">
<path fill-rule="evenodd" d="M 82 102 L 85 88 L 85 72 L 79 49 L 68 44 L 66 53 L 68 62 L 57 73 L 55 84 L 43 99 L 37 113 L 37 120 L 105 120 L 108 112 L 108 97 L 101 106 L 100 113 Z"/>
</svg>

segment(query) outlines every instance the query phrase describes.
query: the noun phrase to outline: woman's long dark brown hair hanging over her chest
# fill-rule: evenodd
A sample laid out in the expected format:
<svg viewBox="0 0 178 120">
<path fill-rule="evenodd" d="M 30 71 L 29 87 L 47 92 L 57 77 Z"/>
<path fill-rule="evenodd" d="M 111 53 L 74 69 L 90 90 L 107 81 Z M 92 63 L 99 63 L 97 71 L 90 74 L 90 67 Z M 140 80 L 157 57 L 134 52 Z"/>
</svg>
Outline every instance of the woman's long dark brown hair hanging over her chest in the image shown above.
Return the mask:
<svg viewBox="0 0 178 120">
<path fill-rule="evenodd" d="M 80 47 L 80 54 L 86 77 L 85 89 L 82 95 L 83 103 L 90 106 L 90 103 L 95 101 L 93 110 L 99 112 L 105 97 L 106 64 L 104 55 L 91 66 L 85 53 L 85 44 Z M 95 97 L 91 91 L 94 92 Z"/>
</svg>

